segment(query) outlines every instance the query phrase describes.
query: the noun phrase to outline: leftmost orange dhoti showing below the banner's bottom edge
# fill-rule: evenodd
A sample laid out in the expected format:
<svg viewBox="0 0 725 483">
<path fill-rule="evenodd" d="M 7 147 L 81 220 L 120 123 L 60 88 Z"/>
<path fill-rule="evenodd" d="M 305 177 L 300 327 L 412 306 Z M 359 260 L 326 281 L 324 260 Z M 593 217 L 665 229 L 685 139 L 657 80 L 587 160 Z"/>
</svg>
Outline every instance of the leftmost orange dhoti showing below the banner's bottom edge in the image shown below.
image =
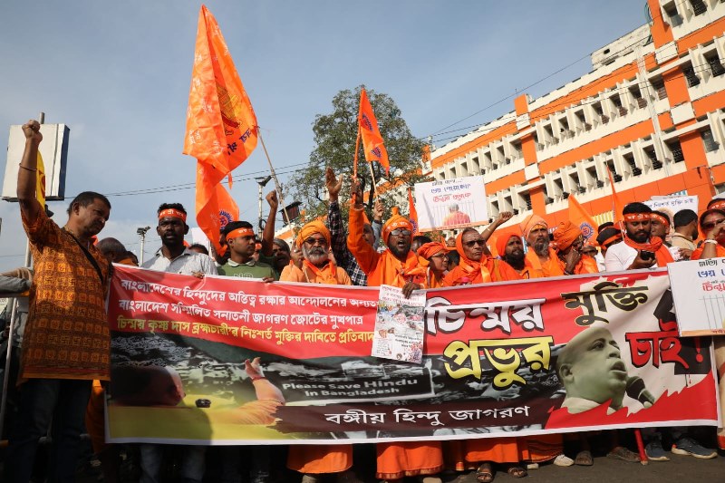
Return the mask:
<svg viewBox="0 0 725 483">
<path fill-rule="evenodd" d="M 287 456 L 287 468 L 300 473 L 340 473 L 352 466 L 352 444 L 294 445 Z"/>
</svg>

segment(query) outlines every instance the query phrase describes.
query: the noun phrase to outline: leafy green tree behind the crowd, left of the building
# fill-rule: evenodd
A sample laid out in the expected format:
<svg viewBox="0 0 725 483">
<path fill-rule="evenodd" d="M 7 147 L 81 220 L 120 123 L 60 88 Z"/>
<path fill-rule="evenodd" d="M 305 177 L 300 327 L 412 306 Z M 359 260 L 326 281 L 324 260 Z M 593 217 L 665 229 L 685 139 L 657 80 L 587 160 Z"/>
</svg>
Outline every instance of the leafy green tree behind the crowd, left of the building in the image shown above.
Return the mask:
<svg viewBox="0 0 725 483">
<path fill-rule="evenodd" d="M 346 89 L 333 97 L 333 111 L 328 114 L 318 114 L 314 119 L 314 150 L 310 153 L 309 165 L 301 169 L 291 179 L 295 199 L 301 201 L 305 210 L 305 218 L 324 216 L 327 213 L 326 196 L 324 188 L 324 169 L 332 167 L 339 177 L 343 175 L 345 182 L 340 195 L 343 215 L 347 213 L 347 203 L 342 202 L 350 198 L 350 179 L 353 176 L 353 158 L 355 140 L 357 137 L 357 114 L 360 103 L 360 90 L 364 85 L 358 86 L 354 91 Z M 377 181 L 382 202 L 387 208 L 395 204 L 395 191 L 391 187 L 401 185 L 412 186 L 416 182 L 429 180 L 420 174 L 420 159 L 423 142 L 415 138 L 408 128 L 408 124 L 401 117 L 401 110 L 390 96 L 367 90 L 372 104 L 372 110 L 378 121 L 385 148 L 388 150 L 391 169 L 390 175 L 385 175 L 385 169 L 377 162 L 372 163 L 372 171 Z M 362 183 L 363 190 L 370 195 L 367 207 L 370 210 L 373 202 L 373 186 L 369 163 L 362 152 L 362 141 L 358 152 L 357 177 Z M 381 185 L 385 188 L 381 189 Z M 407 213 L 407 191 L 402 193 L 406 198 L 400 203 L 402 213 Z"/>
</svg>

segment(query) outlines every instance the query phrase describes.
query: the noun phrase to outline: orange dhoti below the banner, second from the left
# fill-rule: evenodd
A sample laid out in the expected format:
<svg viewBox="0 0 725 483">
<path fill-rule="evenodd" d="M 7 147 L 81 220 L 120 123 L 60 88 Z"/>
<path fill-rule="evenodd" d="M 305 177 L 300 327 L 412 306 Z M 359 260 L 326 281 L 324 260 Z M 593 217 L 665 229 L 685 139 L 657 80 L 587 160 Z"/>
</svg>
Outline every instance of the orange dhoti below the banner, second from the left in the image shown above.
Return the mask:
<svg viewBox="0 0 725 483">
<path fill-rule="evenodd" d="M 378 443 L 375 478 L 400 479 L 435 475 L 443 469 L 440 441 Z"/>
</svg>

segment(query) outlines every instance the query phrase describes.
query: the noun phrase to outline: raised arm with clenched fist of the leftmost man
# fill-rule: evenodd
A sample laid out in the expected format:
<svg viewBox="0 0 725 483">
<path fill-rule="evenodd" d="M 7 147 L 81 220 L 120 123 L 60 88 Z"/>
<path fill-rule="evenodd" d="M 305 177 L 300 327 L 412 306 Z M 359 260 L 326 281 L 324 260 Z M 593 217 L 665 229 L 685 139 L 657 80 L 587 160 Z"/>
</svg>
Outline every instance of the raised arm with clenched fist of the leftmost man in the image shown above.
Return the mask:
<svg viewBox="0 0 725 483">
<path fill-rule="evenodd" d="M 43 134 L 40 133 L 40 123 L 32 120 L 23 125 L 23 133 L 25 135 L 25 150 L 23 151 L 23 159 L 20 160 L 20 168 L 17 171 L 17 199 L 23 217 L 32 223 L 37 219 L 40 210 L 43 209 L 37 198 L 35 198 L 38 176 L 38 146 L 43 140 Z"/>
</svg>

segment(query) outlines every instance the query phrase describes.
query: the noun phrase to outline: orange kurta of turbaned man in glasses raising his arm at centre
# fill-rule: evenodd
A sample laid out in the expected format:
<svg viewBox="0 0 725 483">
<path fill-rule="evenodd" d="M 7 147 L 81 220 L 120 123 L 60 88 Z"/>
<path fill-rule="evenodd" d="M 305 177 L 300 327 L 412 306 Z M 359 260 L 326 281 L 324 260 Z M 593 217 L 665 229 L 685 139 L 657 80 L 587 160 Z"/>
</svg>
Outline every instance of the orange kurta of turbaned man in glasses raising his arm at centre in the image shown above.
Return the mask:
<svg viewBox="0 0 725 483">
<path fill-rule="evenodd" d="M 390 250 L 378 253 L 362 238 L 364 212 L 350 208 L 349 233 L 347 247 L 357 260 L 358 265 L 368 275 L 368 286 L 392 285 L 402 287 L 409 280 L 426 286 L 425 270 L 418 256 L 408 252 L 405 263 L 401 262 Z"/>
</svg>

